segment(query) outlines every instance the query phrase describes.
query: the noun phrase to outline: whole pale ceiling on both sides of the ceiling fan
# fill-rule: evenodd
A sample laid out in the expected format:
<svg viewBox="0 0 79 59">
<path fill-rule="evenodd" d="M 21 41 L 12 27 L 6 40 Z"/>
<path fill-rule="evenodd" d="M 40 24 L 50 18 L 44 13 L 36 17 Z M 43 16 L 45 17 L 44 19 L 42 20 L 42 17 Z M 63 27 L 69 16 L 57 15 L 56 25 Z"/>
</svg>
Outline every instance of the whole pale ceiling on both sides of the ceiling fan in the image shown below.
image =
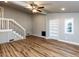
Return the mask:
<svg viewBox="0 0 79 59">
<path fill-rule="evenodd" d="M 11 1 L 10 3 L 26 8 L 31 1 Z M 35 1 L 35 3 L 43 5 L 45 7 L 44 11 L 48 13 L 79 12 L 79 1 Z M 66 10 L 62 11 L 61 8 L 66 8 Z"/>
</svg>

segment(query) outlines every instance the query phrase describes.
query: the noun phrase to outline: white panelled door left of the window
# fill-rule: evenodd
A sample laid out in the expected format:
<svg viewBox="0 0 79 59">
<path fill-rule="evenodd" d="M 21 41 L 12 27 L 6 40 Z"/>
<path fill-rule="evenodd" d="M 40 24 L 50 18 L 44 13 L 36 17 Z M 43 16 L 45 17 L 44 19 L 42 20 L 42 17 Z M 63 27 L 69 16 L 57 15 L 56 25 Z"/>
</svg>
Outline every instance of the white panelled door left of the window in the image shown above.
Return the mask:
<svg viewBox="0 0 79 59">
<path fill-rule="evenodd" d="M 49 20 L 49 37 L 53 39 L 59 38 L 59 20 L 58 19 Z"/>
</svg>

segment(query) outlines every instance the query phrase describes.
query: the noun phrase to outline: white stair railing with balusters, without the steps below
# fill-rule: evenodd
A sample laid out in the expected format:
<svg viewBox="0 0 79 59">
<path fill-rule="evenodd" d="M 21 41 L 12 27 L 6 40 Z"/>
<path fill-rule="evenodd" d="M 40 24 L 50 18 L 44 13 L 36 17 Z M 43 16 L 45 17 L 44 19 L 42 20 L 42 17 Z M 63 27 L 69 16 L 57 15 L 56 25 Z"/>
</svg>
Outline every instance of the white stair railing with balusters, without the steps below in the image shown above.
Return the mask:
<svg viewBox="0 0 79 59">
<path fill-rule="evenodd" d="M 8 18 L 0 18 L 0 30 L 12 29 L 22 37 L 25 37 L 26 30 L 15 20 Z"/>
</svg>

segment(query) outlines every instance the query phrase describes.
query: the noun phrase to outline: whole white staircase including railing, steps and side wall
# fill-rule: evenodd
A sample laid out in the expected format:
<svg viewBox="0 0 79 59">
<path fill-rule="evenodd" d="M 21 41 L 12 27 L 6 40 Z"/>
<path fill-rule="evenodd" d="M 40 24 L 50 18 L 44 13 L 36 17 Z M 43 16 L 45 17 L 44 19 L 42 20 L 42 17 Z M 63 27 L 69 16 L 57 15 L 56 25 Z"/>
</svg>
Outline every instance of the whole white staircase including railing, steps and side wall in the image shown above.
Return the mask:
<svg viewBox="0 0 79 59">
<path fill-rule="evenodd" d="M 25 38 L 26 30 L 14 19 L 0 18 L 0 43 Z"/>
</svg>

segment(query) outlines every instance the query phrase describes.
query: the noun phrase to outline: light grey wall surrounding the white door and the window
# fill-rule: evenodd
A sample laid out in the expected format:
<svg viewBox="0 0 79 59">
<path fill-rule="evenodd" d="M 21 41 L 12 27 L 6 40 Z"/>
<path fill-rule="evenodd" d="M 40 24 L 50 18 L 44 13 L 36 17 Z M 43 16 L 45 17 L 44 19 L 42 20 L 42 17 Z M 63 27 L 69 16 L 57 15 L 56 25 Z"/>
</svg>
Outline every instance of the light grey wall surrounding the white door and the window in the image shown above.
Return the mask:
<svg viewBox="0 0 79 59">
<path fill-rule="evenodd" d="M 74 19 L 74 34 L 65 34 L 64 33 L 64 22 L 66 18 Z M 48 21 L 50 19 L 58 19 L 59 20 L 59 40 L 65 40 L 70 42 L 79 43 L 79 13 L 51 13 L 47 15 L 47 26 Z M 48 35 L 48 27 L 47 27 L 47 37 Z"/>
</svg>

